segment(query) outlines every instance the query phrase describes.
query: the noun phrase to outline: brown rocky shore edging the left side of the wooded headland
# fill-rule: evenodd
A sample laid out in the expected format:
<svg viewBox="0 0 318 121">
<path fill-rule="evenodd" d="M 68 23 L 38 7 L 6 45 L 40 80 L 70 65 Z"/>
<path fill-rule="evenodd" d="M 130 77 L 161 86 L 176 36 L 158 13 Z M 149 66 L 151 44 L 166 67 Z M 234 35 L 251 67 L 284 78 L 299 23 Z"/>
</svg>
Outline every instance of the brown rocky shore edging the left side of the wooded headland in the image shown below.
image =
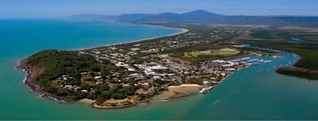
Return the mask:
<svg viewBox="0 0 318 121">
<path fill-rule="evenodd" d="M 32 82 L 32 79 L 35 77 L 36 72 L 34 69 L 29 68 L 26 63 L 26 59 L 20 60 L 18 62 L 18 65 L 16 66 L 17 69 L 22 69 L 26 73 L 26 77 L 23 80 L 23 83 L 34 93 L 40 94 L 38 97 L 40 98 L 52 98 L 59 102 L 68 102 L 68 103 L 74 103 L 77 102 L 76 100 L 66 99 L 62 98 L 53 94 L 50 94 L 48 92 L 42 91 L 39 86 L 34 84 Z"/>
</svg>

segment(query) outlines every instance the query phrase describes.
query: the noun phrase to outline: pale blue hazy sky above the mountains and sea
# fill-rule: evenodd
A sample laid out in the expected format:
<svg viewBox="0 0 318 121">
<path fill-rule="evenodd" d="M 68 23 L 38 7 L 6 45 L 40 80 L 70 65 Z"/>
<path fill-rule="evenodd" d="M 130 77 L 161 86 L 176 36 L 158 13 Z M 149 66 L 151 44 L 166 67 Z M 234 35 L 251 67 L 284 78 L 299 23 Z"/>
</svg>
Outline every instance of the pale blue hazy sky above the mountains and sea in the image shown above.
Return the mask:
<svg viewBox="0 0 318 121">
<path fill-rule="evenodd" d="M 0 18 L 61 18 L 77 14 L 185 13 L 318 16 L 318 0 L 0 0 Z"/>
</svg>

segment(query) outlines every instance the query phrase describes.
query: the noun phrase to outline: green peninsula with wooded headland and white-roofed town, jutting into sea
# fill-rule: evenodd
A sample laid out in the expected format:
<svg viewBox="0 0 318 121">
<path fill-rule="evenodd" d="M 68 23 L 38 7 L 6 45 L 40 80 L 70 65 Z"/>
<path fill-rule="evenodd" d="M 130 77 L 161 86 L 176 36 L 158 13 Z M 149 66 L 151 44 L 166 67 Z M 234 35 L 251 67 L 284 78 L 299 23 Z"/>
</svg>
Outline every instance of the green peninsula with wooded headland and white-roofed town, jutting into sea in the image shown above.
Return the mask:
<svg viewBox="0 0 318 121">
<path fill-rule="evenodd" d="M 294 51 L 289 46 L 315 45 L 283 36 L 267 40 L 270 34 L 259 34 L 275 31 L 278 35 L 289 31 L 273 26 L 162 25 L 188 31 L 74 51 L 43 50 L 21 60 L 17 68 L 28 73 L 25 83 L 45 97 L 67 102 L 90 99 L 94 100 L 93 108 L 112 109 L 148 101 L 168 90 L 169 86 L 196 84 L 202 88 L 212 87 L 222 83 L 234 71 L 271 62 L 252 60 L 248 57 L 251 55 L 282 57 L 273 51 L 241 44 L 291 52 Z M 284 44 L 284 48 L 277 47 L 280 44 Z M 308 59 L 303 57 L 302 60 Z M 176 92 L 171 98 L 188 95 Z"/>
</svg>

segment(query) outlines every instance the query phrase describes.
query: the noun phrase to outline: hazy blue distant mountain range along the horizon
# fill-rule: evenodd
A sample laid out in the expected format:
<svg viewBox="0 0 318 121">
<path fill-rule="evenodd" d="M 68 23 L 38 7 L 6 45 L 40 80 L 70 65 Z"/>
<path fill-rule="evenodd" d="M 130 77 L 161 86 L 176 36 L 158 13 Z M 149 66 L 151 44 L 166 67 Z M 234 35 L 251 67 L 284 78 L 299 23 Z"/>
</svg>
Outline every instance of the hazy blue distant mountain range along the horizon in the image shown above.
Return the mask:
<svg viewBox="0 0 318 121">
<path fill-rule="evenodd" d="M 254 24 L 277 26 L 306 26 L 318 27 L 316 16 L 226 16 L 211 13 L 205 10 L 195 10 L 183 14 L 122 14 L 120 16 L 107 16 L 100 14 L 73 15 L 68 18 L 107 19 L 116 22 L 142 23 L 142 22 L 169 22 L 169 23 L 224 23 L 224 24 Z"/>
</svg>

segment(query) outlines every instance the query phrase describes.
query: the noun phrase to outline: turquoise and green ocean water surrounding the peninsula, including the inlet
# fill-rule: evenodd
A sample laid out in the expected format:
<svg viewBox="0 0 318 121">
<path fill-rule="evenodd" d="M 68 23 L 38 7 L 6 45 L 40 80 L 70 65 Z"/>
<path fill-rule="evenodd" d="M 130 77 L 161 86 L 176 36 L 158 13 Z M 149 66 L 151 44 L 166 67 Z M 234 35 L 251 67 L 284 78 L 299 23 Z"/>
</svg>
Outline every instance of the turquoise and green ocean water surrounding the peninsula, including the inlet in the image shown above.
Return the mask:
<svg viewBox="0 0 318 121">
<path fill-rule="evenodd" d="M 284 52 L 283 59 L 252 56 L 273 62 L 235 72 L 210 93 L 111 110 L 37 98 L 22 83 L 24 72 L 14 68 L 44 49 L 89 48 L 181 31 L 102 21 L 0 20 L 0 120 L 318 120 L 318 81 L 274 72 L 299 60 Z"/>
</svg>

